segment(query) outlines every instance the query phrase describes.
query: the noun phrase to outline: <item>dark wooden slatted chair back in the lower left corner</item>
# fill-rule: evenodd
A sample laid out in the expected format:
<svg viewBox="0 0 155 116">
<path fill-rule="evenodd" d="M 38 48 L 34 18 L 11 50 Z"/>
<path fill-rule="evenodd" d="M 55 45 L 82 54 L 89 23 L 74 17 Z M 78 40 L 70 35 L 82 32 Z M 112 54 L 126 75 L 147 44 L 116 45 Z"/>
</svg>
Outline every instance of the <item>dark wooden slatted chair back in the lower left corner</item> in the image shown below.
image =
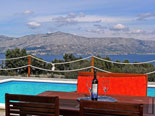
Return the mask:
<svg viewBox="0 0 155 116">
<path fill-rule="evenodd" d="M 59 116 L 59 98 L 5 94 L 6 116 Z"/>
</svg>

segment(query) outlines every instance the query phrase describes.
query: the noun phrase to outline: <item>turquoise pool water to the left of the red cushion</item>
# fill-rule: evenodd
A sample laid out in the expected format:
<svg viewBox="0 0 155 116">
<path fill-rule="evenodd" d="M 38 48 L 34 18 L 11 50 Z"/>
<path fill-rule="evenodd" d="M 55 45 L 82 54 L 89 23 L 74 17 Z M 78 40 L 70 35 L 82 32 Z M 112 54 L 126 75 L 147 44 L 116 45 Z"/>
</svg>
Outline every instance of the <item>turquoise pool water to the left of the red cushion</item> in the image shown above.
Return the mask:
<svg viewBox="0 0 155 116">
<path fill-rule="evenodd" d="M 9 81 L 0 83 L 0 103 L 5 103 L 5 93 L 37 95 L 44 91 L 76 91 L 76 84 Z"/>
</svg>

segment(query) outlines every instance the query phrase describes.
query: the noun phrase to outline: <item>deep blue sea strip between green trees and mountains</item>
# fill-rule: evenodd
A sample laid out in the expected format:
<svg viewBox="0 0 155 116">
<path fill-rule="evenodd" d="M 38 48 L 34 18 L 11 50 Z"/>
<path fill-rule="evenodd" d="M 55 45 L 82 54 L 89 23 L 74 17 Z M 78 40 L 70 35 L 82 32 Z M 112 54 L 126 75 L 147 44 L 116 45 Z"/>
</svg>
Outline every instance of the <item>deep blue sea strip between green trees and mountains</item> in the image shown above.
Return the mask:
<svg viewBox="0 0 155 116">
<path fill-rule="evenodd" d="M 39 58 L 42 58 L 45 61 L 51 62 L 54 59 L 62 60 L 63 55 L 36 55 Z M 76 57 L 79 57 L 79 55 L 75 55 Z M 89 55 L 82 55 L 82 58 L 86 58 Z M 129 62 L 147 62 L 155 60 L 155 54 L 154 55 L 137 55 L 137 54 L 129 54 L 129 55 L 102 55 L 101 57 L 110 57 L 112 61 L 124 61 L 128 60 Z M 5 59 L 5 54 L 0 54 L 0 59 Z M 153 62 L 154 64 L 155 62 Z"/>
</svg>

